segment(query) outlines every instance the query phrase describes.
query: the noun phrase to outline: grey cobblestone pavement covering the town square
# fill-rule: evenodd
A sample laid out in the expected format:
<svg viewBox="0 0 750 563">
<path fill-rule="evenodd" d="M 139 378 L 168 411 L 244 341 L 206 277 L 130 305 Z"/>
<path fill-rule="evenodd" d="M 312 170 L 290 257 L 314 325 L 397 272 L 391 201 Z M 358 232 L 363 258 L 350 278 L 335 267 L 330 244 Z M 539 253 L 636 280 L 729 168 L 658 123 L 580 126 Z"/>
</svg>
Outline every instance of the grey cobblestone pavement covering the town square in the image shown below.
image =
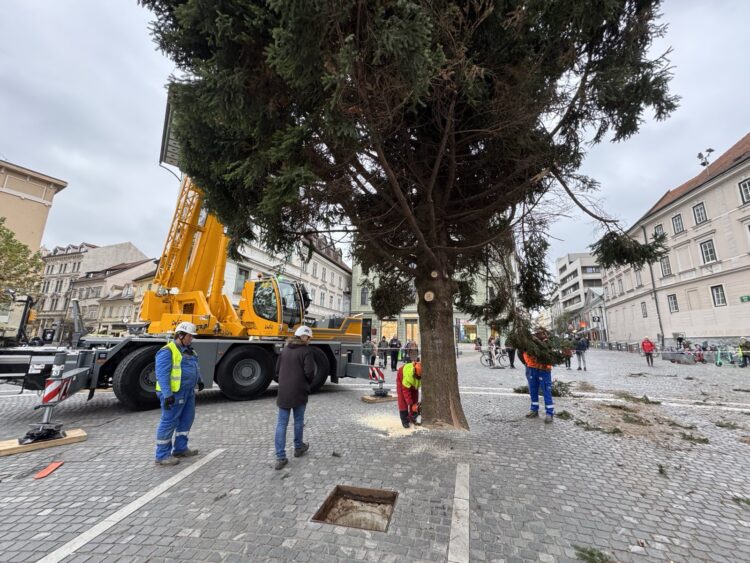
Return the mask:
<svg viewBox="0 0 750 563">
<path fill-rule="evenodd" d="M 574 561 L 577 549 L 613 561 L 750 560 L 750 369 L 648 368 L 598 350 L 587 359 L 585 372 L 554 369 L 575 396 L 555 399 L 572 418 L 551 425 L 524 418 L 528 397 L 512 391 L 522 369 L 484 368 L 468 349 L 459 380 L 470 432 L 389 433 L 378 421 L 398 427 L 395 403 L 360 401 L 361 380 L 329 384 L 310 399 L 309 453 L 282 471 L 275 390 L 244 403 L 205 391 L 190 443 L 223 451 L 65 561 L 446 561 L 459 463 L 470 467 L 471 561 Z M 36 394 L 14 389 L 0 386 L 0 439 L 41 416 Z M 632 402 L 644 394 L 661 403 Z M 0 458 L 1 561 L 38 560 L 201 459 L 154 466 L 158 411 L 85 397 L 55 418 L 86 442 Z M 65 464 L 31 478 L 53 460 Z M 387 532 L 312 522 L 337 484 L 398 492 Z"/>
</svg>

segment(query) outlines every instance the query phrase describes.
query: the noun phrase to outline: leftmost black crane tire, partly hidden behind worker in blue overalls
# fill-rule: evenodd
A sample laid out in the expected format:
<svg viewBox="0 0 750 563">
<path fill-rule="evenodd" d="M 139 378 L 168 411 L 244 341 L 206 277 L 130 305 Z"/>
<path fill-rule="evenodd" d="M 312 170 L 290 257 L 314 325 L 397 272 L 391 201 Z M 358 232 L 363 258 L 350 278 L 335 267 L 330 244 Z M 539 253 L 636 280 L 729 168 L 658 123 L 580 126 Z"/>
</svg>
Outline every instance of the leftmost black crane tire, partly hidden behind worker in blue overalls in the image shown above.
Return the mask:
<svg viewBox="0 0 750 563">
<path fill-rule="evenodd" d="M 156 353 L 159 346 L 133 350 L 115 368 L 112 390 L 129 409 L 145 411 L 159 407 L 156 396 Z"/>
</svg>

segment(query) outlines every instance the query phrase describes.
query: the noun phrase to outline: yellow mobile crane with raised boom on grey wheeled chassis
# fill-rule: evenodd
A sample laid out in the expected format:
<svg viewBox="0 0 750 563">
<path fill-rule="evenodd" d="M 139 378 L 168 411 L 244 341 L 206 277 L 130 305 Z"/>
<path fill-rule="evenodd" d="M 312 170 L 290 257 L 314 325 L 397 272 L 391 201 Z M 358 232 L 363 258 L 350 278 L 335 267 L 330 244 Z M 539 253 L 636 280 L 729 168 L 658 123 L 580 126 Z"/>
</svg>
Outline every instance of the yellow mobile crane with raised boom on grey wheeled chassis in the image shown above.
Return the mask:
<svg viewBox="0 0 750 563">
<path fill-rule="evenodd" d="M 265 277 L 245 282 L 236 311 L 222 292 L 227 243 L 224 227 L 203 208 L 202 192 L 184 178 L 154 279 L 157 287 L 145 294 L 141 308 L 148 334 L 84 336 L 64 352 L 7 349 L 0 353 L 0 381 L 44 390 L 45 382 L 53 376 L 56 382 L 66 382 L 62 385 L 64 397 L 89 389 L 91 398 L 96 389 L 112 387 L 117 398 L 132 409 L 156 408 L 154 357 L 174 327 L 189 321 L 198 327 L 193 347 L 206 387 L 216 383 L 234 400 L 257 397 L 273 380 L 276 358 L 286 339 L 304 322 L 310 299 L 299 282 Z M 360 364 L 362 320 L 342 317 L 328 324 L 311 327 L 313 391 L 329 378 L 335 383 L 340 377 L 371 376 L 369 366 Z M 60 397 L 62 393 L 44 406 L 53 407 Z M 46 413 L 49 418 L 51 410 Z M 54 430 L 54 425 L 44 422 L 27 439 L 54 437 L 55 431 L 50 429 Z"/>
</svg>

